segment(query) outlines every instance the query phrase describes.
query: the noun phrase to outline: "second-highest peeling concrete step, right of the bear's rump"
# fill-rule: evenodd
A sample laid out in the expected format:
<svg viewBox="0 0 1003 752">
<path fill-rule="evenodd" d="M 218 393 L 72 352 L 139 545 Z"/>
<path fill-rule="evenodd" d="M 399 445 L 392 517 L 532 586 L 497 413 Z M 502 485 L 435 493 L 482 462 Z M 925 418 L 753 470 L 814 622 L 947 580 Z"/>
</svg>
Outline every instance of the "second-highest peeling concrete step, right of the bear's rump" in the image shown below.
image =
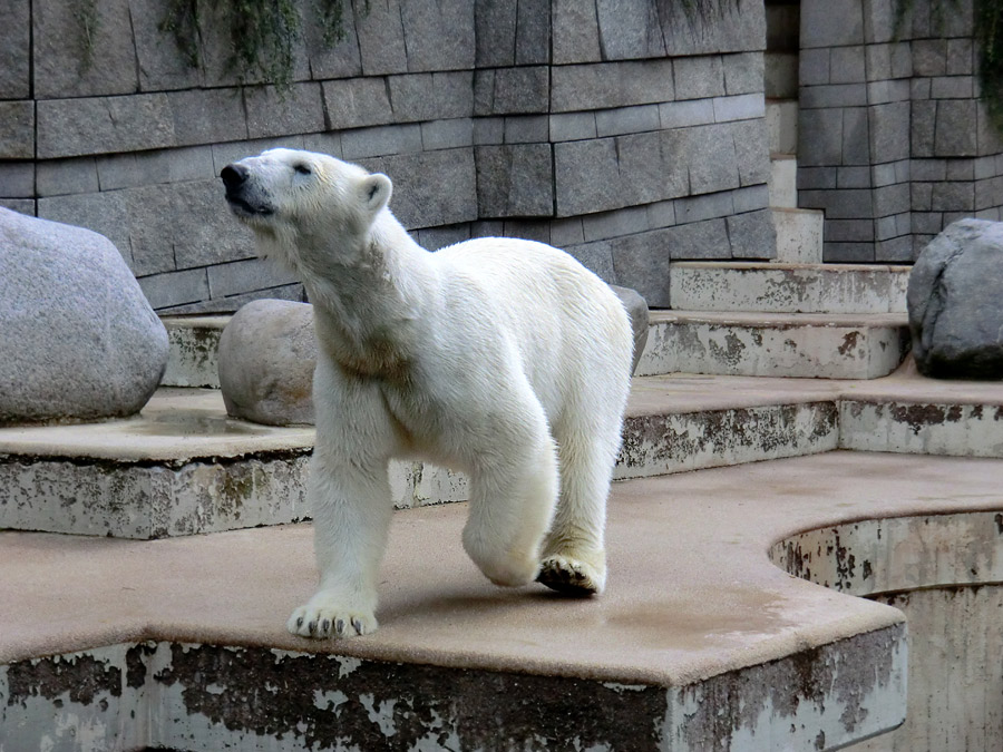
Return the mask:
<svg viewBox="0 0 1003 752">
<path fill-rule="evenodd" d="M 877 379 L 908 346 L 905 314 L 654 311 L 636 373 Z"/>
</svg>

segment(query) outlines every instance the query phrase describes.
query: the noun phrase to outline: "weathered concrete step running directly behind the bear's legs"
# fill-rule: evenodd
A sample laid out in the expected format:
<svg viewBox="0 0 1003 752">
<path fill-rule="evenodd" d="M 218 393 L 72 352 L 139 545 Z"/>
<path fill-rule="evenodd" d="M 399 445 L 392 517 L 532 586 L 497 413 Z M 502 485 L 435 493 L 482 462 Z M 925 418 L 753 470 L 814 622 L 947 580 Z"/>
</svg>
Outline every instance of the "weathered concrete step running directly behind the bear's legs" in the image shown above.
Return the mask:
<svg viewBox="0 0 1003 752">
<path fill-rule="evenodd" d="M 616 478 L 837 447 L 830 385 L 734 387 L 635 379 Z M 0 528 L 147 539 L 296 521 L 313 441 L 227 418 L 214 390 L 160 390 L 127 421 L 2 429 Z M 390 482 L 398 508 L 468 498 L 465 476 L 428 463 L 393 462 Z"/>
</svg>

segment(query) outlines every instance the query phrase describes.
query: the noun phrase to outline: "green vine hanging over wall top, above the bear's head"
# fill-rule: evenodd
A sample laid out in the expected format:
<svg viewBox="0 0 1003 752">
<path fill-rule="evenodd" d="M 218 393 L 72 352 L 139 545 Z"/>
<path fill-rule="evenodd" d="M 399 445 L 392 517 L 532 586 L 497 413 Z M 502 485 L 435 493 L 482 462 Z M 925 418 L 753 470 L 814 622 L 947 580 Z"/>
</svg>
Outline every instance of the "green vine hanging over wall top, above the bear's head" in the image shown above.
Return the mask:
<svg viewBox="0 0 1003 752">
<path fill-rule="evenodd" d="M 335 45 L 344 38 L 344 12 L 351 0 L 315 0 L 322 41 Z M 369 2 L 366 2 L 366 10 Z M 159 29 L 169 32 L 185 61 L 201 65 L 201 19 L 216 13 L 230 40 L 226 68 L 242 79 L 257 78 L 281 88 L 292 84 L 294 50 L 302 36 L 302 20 L 293 0 L 168 0 Z"/>
</svg>

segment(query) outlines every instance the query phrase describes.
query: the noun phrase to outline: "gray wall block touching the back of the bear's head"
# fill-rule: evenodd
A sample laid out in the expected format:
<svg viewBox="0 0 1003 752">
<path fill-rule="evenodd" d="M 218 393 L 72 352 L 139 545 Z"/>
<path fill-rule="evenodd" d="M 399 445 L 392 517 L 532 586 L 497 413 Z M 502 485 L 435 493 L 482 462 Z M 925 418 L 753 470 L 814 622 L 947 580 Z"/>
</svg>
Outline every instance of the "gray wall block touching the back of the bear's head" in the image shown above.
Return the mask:
<svg viewBox="0 0 1003 752">
<path fill-rule="evenodd" d="M 406 227 L 454 225 L 478 217 L 473 148 L 382 157 L 377 168 L 393 180 L 390 208 Z"/>
</svg>

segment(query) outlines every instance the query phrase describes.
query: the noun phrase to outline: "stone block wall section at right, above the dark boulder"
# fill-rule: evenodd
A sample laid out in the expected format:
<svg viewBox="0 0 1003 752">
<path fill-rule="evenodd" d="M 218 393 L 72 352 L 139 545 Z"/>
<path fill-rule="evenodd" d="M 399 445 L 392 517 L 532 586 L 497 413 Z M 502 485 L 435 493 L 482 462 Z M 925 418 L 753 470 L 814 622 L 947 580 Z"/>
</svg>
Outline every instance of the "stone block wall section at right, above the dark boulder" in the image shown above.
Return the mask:
<svg viewBox="0 0 1003 752">
<path fill-rule="evenodd" d="M 943 3 L 942 3 L 943 4 Z M 825 260 L 909 262 L 965 216 L 1001 219 L 1003 140 L 978 101 L 972 0 L 801 2 L 798 202 Z"/>
</svg>

